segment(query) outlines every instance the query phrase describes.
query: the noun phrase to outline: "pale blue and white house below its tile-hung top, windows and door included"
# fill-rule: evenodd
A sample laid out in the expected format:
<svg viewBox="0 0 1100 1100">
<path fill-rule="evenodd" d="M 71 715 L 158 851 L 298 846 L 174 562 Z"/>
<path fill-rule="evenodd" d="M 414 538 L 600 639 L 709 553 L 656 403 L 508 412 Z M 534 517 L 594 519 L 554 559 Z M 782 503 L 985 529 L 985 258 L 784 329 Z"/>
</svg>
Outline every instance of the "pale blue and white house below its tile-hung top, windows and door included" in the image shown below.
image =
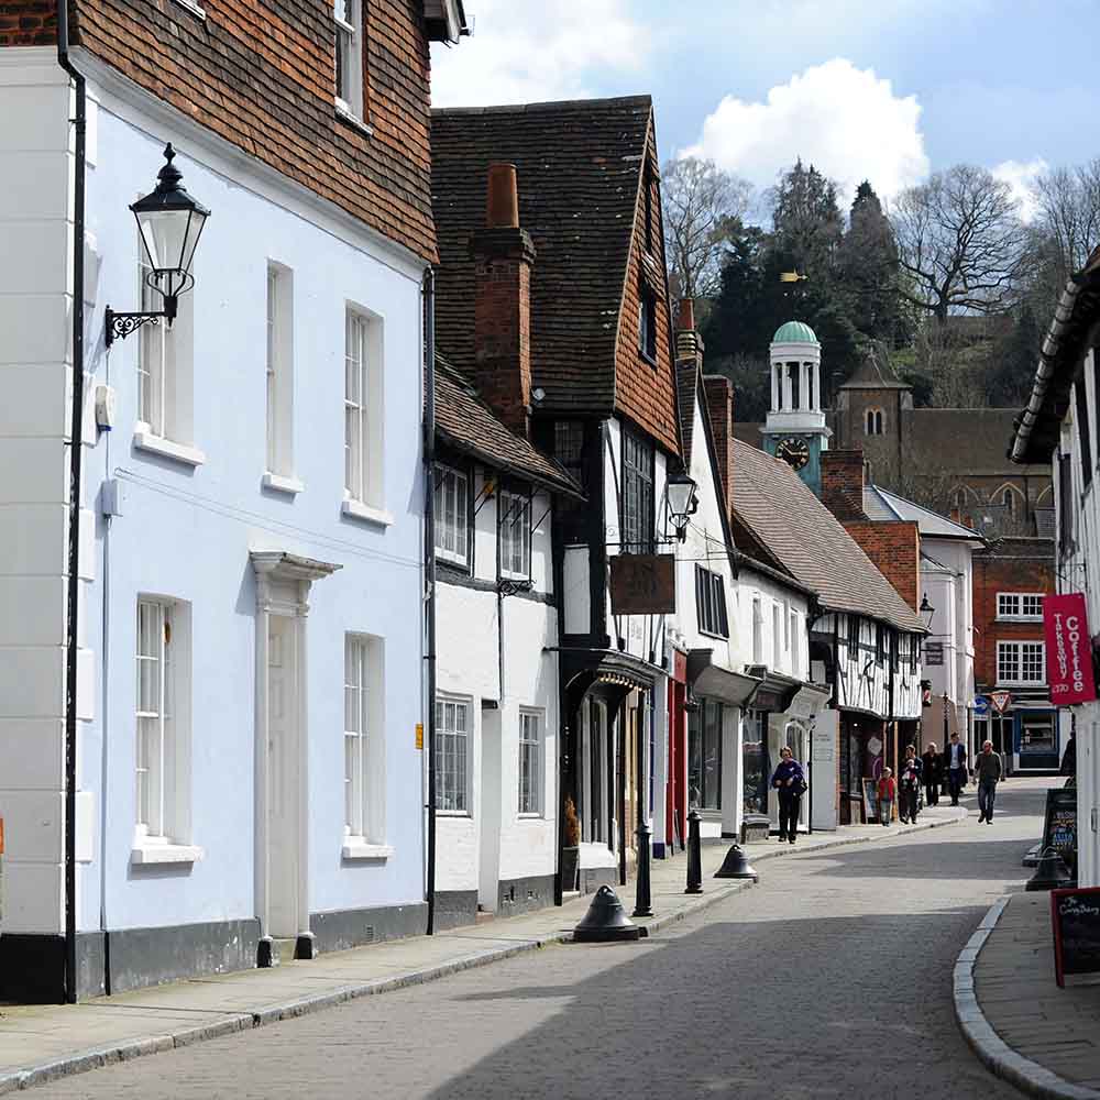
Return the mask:
<svg viewBox="0 0 1100 1100">
<path fill-rule="evenodd" d="M 0 50 L 0 981 L 45 999 L 411 934 L 426 912 L 424 249 L 323 197 L 323 173 L 307 188 L 72 58 L 85 94 L 54 47 Z M 161 302 L 128 207 L 166 142 L 212 211 L 194 289 L 170 328 L 108 346 L 108 307 Z"/>
</svg>

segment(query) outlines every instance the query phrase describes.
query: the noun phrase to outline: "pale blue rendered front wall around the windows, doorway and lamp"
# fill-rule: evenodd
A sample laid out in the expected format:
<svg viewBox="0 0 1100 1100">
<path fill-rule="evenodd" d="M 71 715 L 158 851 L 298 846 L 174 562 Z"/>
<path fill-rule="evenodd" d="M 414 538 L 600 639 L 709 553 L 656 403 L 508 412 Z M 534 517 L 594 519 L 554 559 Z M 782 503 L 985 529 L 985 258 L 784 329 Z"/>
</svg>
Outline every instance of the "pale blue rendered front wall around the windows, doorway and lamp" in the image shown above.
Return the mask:
<svg viewBox="0 0 1100 1100">
<path fill-rule="evenodd" d="M 323 210 L 254 180 L 185 123 L 103 88 L 89 147 L 88 231 L 95 238 L 90 366 L 117 394 L 116 430 L 92 433 L 85 501 L 117 481 L 123 514 L 100 520 L 100 572 L 89 607 L 107 615 L 106 752 L 82 759 L 81 785 L 106 805 L 106 831 L 84 879 L 80 927 L 112 928 L 256 915 L 254 859 L 255 581 L 249 553 L 280 550 L 338 564 L 317 581 L 306 626 L 308 850 L 312 912 L 422 900 L 421 516 L 419 271 L 365 235 L 341 238 Z M 144 101 L 143 101 L 144 103 Z M 151 110 L 155 108 L 150 105 Z M 136 308 L 136 240 L 127 209 L 174 142 L 189 191 L 211 210 L 195 262 L 194 443 L 197 466 L 134 444 L 136 346 L 108 353 L 103 309 Z M 232 180 L 230 174 L 232 173 Z M 316 215 L 316 217 L 315 217 Z M 265 465 L 266 273 L 294 273 L 294 473 L 297 495 L 261 487 Z M 384 483 L 388 526 L 342 515 L 344 312 L 383 329 Z M 105 558 L 106 556 L 106 558 Z M 139 594 L 186 601 L 191 616 L 190 842 L 195 864 L 131 862 L 134 832 L 134 634 Z M 102 631 L 89 612 L 89 627 Z M 343 842 L 344 635 L 382 639 L 385 661 L 384 859 L 349 860 Z M 106 787 L 103 778 L 106 777 Z M 100 865 L 100 860 L 105 865 Z"/>
</svg>

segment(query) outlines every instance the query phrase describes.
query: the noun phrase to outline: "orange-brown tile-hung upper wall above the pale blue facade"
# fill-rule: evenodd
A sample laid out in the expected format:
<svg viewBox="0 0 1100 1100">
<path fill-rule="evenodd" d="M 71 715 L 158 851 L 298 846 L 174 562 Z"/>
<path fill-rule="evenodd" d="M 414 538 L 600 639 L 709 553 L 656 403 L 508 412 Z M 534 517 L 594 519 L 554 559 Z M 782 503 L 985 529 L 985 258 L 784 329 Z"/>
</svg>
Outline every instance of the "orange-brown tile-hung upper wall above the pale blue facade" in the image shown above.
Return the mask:
<svg viewBox="0 0 1100 1100">
<path fill-rule="evenodd" d="M 366 133 L 336 112 L 331 0 L 70 0 L 73 44 L 426 260 L 431 218 L 422 0 L 371 0 Z M 56 41 L 56 0 L 0 0 L 0 45 Z M 180 148 L 186 154 L 185 148 Z"/>
</svg>

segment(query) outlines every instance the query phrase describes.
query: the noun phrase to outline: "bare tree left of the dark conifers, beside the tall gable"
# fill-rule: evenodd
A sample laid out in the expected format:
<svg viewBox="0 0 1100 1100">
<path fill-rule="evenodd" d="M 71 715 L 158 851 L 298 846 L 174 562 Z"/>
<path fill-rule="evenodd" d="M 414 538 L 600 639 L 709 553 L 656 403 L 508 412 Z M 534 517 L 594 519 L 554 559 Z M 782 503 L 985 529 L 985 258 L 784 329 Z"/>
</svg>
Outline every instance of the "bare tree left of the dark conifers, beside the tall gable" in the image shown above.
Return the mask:
<svg viewBox="0 0 1100 1100">
<path fill-rule="evenodd" d="M 721 286 L 726 230 L 748 212 L 752 185 L 713 161 L 688 156 L 666 164 L 661 194 L 673 288 L 679 297 L 712 298 Z"/>
</svg>

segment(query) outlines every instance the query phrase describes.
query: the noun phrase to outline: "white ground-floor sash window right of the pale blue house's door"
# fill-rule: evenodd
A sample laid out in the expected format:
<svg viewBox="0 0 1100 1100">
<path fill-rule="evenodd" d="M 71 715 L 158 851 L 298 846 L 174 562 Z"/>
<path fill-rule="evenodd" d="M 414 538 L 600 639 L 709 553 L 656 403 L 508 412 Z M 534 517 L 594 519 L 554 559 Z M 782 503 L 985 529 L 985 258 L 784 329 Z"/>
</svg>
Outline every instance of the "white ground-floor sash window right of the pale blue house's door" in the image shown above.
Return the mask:
<svg viewBox="0 0 1100 1100">
<path fill-rule="evenodd" d="M 384 858 L 386 844 L 385 650 L 344 635 L 344 859 Z"/>
</svg>

